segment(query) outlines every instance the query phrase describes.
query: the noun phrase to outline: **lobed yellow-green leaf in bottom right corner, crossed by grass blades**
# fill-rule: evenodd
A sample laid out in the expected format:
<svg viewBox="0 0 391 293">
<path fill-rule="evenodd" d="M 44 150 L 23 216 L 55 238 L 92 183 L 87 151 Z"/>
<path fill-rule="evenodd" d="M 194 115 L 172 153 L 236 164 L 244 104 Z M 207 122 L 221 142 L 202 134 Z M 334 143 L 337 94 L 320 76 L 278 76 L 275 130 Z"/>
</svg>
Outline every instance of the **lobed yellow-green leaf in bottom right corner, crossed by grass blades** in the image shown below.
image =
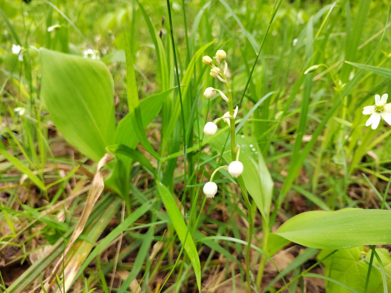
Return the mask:
<svg viewBox="0 0 391 293">
<path fill-rule="evenodd" d="M 322 259 L 330 252 L 331 250 L 322 250 L 317 258 Z M 376 248 L 376 252 L 384 265 L 386 274 L 388 276 L 391 275 L 391 257 L 387 249 Z M 371 250 L 365 252 L 363 246 L 339 250 L 323 261 L 323 264 L 325 265 L 325 276 L 328 276 L 337 282 L 341 282 L 358 292 L 364 292 L 371 253 Z M 387 283 L 388 285 L 391 284 L 390 278 L 388 278 Z M 343 288 L 339 284 L 333 282 L 328 282 L 326 290 L 328 293 L 351 292 L 351 290 Z M 367 292 L 383 293 L 382 276 L 376 258 L 373 259 L 373 267 L 369 277 Z"/>
</svg>

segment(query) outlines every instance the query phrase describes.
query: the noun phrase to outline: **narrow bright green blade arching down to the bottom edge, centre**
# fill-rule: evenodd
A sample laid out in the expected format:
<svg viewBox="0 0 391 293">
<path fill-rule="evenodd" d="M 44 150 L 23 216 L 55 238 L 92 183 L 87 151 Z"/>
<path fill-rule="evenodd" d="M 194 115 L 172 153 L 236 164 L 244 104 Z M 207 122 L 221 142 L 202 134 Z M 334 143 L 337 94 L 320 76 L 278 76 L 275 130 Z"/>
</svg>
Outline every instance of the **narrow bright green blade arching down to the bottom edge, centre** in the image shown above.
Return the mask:
<svg viewBox="0 0 391 293">
<path fill-rule="evenodd" d="M 183 244 L 188 229 L 185 220 L 183 220 L 181 212 L 174 200 L 174 196 L 169 189 L 160 182 L 158 182 L 157 186 L 159 195 L 163 201 L 164 207 L 166 208 L 167 214 L 170 217 L 171 223 Z M 199 262 L 197 248 L 194 245 L 194 241 L 190 233 L 187 235 L 186 243 L 183 245 L 190 261 L 192 262 L 195 278 L 197 279 L 198 290 L 201 291 L 201 264 Z"/>
</svg>

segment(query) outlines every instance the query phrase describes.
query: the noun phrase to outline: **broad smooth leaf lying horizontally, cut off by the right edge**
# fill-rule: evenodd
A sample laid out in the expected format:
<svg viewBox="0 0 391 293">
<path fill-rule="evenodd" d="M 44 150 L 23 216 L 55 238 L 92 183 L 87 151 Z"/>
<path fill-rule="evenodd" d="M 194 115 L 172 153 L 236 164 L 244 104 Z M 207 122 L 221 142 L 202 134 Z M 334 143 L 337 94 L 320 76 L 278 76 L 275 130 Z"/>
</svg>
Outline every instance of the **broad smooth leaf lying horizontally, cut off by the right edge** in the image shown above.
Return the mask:
<svg viewBox="0 0 391 293">
<path fill-rule="evenodd" d="M 308 247 L 342 249 L 391 244 L 391 211 L 348 208 L 309 211 L 283 223 L 276 234 Z"/>
</svg>

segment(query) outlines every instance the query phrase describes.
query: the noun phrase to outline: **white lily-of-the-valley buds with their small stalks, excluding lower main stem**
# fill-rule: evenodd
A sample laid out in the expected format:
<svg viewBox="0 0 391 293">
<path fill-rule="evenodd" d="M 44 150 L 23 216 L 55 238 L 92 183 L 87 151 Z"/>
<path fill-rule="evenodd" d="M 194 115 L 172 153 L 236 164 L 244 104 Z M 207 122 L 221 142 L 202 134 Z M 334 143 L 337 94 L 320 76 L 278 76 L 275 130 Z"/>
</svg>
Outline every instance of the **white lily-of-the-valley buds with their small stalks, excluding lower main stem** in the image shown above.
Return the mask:
<svg viewBox="0 0 391 293">
<path fill-rule="evenodd" d="M 232 100 L 230 100 L 231 99 L 231 95 L 230 95 L 231 90 L 229 88 L 228 80 L 227 80 L 228 64 L 226 62 L 226 58 L 227 58 L 227 54 L 224 50 L 217 50 L 216 55 L 214 57 L 217 66 L 215 64 L 213 64 L 213 59 L 209 56 L 204 56 L 202 58 L 202 61 L 204 64 L 212 67 L 210 70 L 210 76 L 212 76 L 215 79 L 219 79 L 221 82 L 223 82 L 225 84 L 226 89 L 228 91 L 228 97 L 221 90 L 215 89 L 212 87 L 208 87 L 205 89 L 204 96 L 205 96 L 205 98 L 210 99 L 210 98 L 213 98 L 216 95 L 216 93 L 218 92 L 220 94 L 221 98 L 224 101 L 226 101 L 228 104 L 231 103 L 230 105 L 232 106 Z M 224 113 L 223 116 L 221 116 L 213 121 L 207 122 L 204 126 L 204 134 L 209 135 L 209 136 L 215 135 L 217 132 L 217 124 L 216 123 L 221 120 L 226 122 L 229 126 L 231 126 L 230 120 L 231 120 L 231 118 L 233 118 L 233 120 L 235 120 L 235 118 L 238 114 L 238 110 L 239 110 L 238 106 L 236 106 L 235 109 L 233 110 L 232 117 L 231 117 L 230 111 L 228 111 L 228 112 Z M 235 125 L 233 127 L 235 127 Z M 213 177 L 214 177 L 215 173 L 217 173 L 219 170 L 228 169 L 228 173 L 230 173 L 230 175 L 233 178 L 237 178 L 242 174 L 243 164 L 239 161 L 239 153 L 240 153 L 240 147 L 238 145 L 236 147 L 236 160 L 232 161 L 228 166 L 220 166 L 216 170 L 214 170 L 214 172 L 210 176 L 209 182 L 207 182 L 203 188 L 203 191 L 204 191 L 204 194 L 206 195 L 206 197 L 213 198 L 215 196 L 215 194 L 217 193 L 217 184 L 215 182 L 213 182 Z"/>
</svg>

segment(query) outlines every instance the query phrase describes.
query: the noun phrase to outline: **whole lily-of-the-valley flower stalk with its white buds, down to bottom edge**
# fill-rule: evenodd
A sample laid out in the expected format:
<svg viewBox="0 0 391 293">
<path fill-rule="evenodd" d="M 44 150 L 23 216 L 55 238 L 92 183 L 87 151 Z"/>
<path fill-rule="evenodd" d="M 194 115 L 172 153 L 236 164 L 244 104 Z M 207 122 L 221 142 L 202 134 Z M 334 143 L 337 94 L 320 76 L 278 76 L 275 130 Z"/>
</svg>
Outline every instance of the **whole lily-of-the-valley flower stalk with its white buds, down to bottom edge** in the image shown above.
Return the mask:
<svg viewBox="0 0 391 293">
<path fill-rule="evenodd" d="M 232 100 L 232 91 L 230 88 L 230 84 L 228 82 L 227 73 L 228 73 L 228 63 L 226 61 L 227 54 L 224 50 L 217 50 L 216 55 L 213 57 L 216 65 L 213 63 L 213 59 L 209 56 L 204 56 L 202 58 L 202 61 L 207 66 L 211 66 L 210 69 L 210 76 L 212 76 L 215 79 L 220 80 L 224 86 L 226 93 L 221 91 L 220 89 L 215 89 L 212 87 L 208 87 L 204 91 L 205 98 L 213 98 L 216 93 L 219 93 L 222 100 L 228 104 L 228 111 L 224 113 L 221 117 L 209 121 L 204 126 L 204 134 L 206 135 L 215 135 L 217 132 L 217 123 L 219 121 L 224 121 L 230 126 L 230 136 L 231 136 L 231 157 L 232 161 L 228 166 L 220 166 L 216 170 L 213 171 L 212 175 L 210 176 L 209 182 L 207 182 L 204 185 L 203 191 L 206 197 L 213 198 L 217 193 L 217 184 L 213 182 L 214 175 L 221 169 L 228 169 L 228 173 L 233 178 L 237 178 L 239 182 L 240 189 L 242 190 L 243 198 L 247 205 L 248 210 L 248 222 L 249 222 L 249 229 L 248 229 L 248 245 L 246 247 L 246 255 L 245 255 L 245 263 L 246 263 L 246 278 L 247 278 L 247 292 L 251 292 L 251 276 L 250 276 L 250 245 L 251 245 L 251 239 L 253 235 L 253 209 L 251 206 L 251 203 L 248 199 L 246 186 L 244 185 L 244 180 L 242 179 L 241 175 L 243 173 L 243 164 L 239 160 L 240 155 L 240 146 L 235 144 L 235 119 L 239 111 L 239 107 L 236 106 L 234 108 L 233 106 L 233 100 Z"/>
</svg>

